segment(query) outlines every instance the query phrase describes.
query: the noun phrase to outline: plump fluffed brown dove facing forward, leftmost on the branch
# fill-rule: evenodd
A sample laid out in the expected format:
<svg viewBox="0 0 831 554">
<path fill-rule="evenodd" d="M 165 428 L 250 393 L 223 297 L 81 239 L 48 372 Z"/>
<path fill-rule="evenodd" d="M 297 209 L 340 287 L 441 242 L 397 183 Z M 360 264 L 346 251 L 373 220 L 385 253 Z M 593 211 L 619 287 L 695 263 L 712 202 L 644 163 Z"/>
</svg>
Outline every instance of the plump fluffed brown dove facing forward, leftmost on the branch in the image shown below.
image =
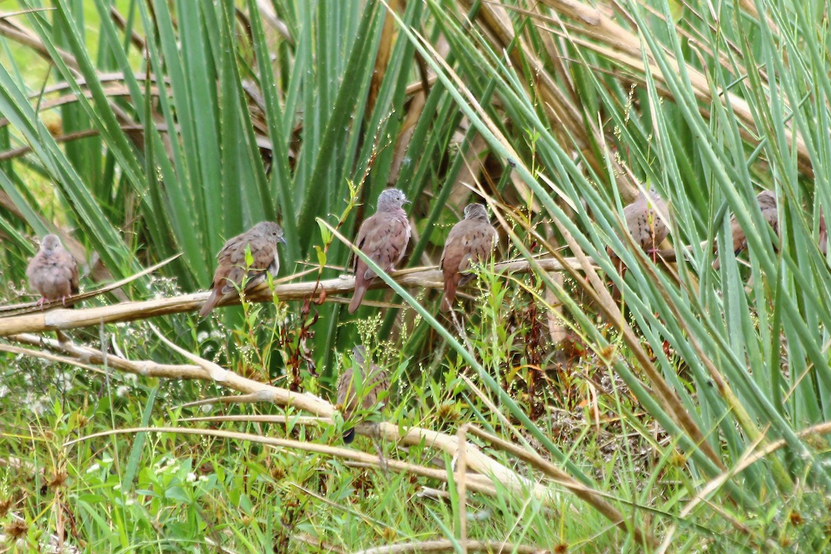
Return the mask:
<svg viewBox="0 0 831 554">
<path fill-rule="evenodd" d="M 43 302 L 61 299 L 66 306 L 66 297 L 78 292 L 78 264 L 71 253 L 61 246 L 55 235 L 43 238 L 40 252 L 32 257 L 26 268 L 29 287 L 41 293 L 38 307 Z"/>
</svg>

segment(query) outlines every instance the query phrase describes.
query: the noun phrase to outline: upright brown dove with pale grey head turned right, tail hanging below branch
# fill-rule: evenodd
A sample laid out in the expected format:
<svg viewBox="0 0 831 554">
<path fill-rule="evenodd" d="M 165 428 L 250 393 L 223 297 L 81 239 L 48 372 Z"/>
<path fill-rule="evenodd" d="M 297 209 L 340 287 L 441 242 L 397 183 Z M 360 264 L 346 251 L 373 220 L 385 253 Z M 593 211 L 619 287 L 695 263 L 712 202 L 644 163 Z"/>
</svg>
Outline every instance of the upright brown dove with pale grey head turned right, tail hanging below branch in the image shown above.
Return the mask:
<svg viewBox="0 0 831 554">
<path fill-rule="evenodd" d="M 410 242 L 410 222 L 401 206 L 410 202 L 399 189 L 386 189 L 378 197 L 378 209 L 358 229 L 355 246 L 376 262 L 385 272 L 395 271 Z M 349 313 L 361 306 L 366 290 L 376 274 L 360 257 L 352 262 L 355 272 L 355 293 L 349 302 Z"/>
</svg>

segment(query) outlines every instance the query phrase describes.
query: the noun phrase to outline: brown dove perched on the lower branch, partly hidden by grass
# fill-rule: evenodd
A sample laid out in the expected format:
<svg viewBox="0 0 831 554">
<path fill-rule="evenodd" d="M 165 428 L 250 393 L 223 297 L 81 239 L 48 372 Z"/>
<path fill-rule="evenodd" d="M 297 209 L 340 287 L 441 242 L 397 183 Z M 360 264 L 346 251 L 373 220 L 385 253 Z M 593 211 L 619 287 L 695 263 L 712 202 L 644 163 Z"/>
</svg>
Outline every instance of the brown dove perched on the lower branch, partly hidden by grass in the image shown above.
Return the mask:
<svg viewBox="0 0 831 554">
<path fill-rule="evenodd" d="M 352 349 L 352 367 L 345 370 L 337 380 L 337 404 L 340 406 L 343 420 L 352 419 L 360 404 L 362 409 L 371 409 L 378 401 L 381 392 L 390 389 L 390 378 L 370 360 L 366 371 L 366 351 L 361 345 Z M 358 375 L 356 379 L 354 375 Z M 358 400 L 362 399 L 361 402 Z M 343 442 L 352 443 L 355 429 L 343 432 Z"/>
</svg>

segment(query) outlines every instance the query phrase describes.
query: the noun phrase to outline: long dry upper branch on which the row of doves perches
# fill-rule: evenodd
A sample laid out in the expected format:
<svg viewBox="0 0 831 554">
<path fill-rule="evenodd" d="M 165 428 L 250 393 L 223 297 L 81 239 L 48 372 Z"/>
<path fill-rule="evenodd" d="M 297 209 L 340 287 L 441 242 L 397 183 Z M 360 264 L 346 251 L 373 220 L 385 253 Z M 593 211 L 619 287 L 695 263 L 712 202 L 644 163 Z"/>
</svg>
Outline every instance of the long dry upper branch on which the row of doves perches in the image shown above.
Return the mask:
<svg viewBox="0 0 831 554">
<path fill-rule="evenodd" d="M 567 260 L 570 263 L 569 260 Z M 561 272 L 563 265 L 553 258 L 540 259 L 535 262 L 538 267 L 547 272 Z M 578 266 L 575 264 L 575 269 Z M 530 272 L 529 262 L 514 260 L 500 262 L 494 265 L 497 273 Z M 441 288 L 444 287 L 442 274 L 432 267 L 416 267 L 392 274 L 396 282 L 403 287 L 412 288 Z M 292 277 L 288 277 L 292 278 Z M 377 279 L 371 288 L 384 288 L 386 285 Z M 273 297 L 280 300 L 300 300 L 321 295 L 330 298 L 332 295 L 342 295 L 355 290 L 355 277 L 342 276 L 323 281 L 285 282 L 277 284 L 273 293 L 268 284 L 254 288 L 247 293 L 251 302 L 272 302 Z M 273 296 L 272 296 L 273 295 Z M 183 311 L 198 311 L 209 297 L 209 292 L 194 292 L 178 297 L 160 298 L 141 302 L 120 302 L 112 306 L 100 306 L 86 309 L 57 309 L 49 311 L 33 311 L 30 313 L 0 317 L 0 336 L 16 335 L 18 333 L 37 333 L 56 331 L 58 329 L 76 329 L 101 325 L 101 323 L 116 323 L 120 321 L 135 321 L 149 319 L 155 316 L 180 313 Z M 225 295 L 219 306 L 238 304 L 239 297 L 235 293 Z"/>
</svg>

